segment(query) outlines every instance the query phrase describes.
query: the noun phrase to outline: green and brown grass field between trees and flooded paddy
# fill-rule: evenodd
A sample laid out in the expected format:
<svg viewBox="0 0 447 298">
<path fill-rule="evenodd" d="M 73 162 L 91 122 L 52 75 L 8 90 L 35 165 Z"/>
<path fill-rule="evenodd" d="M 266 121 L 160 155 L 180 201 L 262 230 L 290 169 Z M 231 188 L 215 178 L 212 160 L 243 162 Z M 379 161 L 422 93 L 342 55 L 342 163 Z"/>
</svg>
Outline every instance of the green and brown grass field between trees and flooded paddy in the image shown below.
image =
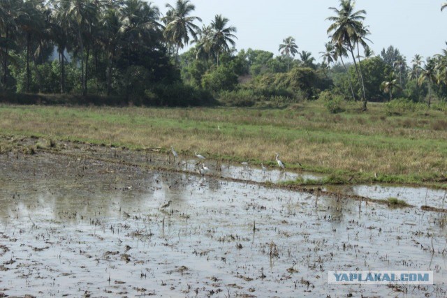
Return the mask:
<svg viewBox="0 0 447 298">
<path fill-rule="evenodd" d="M 390 116 L 369 103 L 367 112 L 349 106 L 330 114 L 318 101 L 278 110 L 1 105 L 0 129 L 133 149 L 173 146 L 184 156 L 199 151 L 252 165 L 274 166 L 279 152 L 289 168 L 328 174 L 328 184 L 447 186 L 446 113 L 437 110 Z"/>
</svg>

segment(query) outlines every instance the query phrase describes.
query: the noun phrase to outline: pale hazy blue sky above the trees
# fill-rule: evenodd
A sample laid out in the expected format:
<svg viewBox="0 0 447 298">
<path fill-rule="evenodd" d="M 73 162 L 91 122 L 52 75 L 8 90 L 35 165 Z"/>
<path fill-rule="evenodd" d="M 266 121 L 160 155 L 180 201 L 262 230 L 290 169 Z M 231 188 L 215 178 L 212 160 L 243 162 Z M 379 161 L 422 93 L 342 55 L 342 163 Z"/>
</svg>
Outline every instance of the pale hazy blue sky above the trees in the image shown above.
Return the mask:
<svg viewBox="0 0 447 298">
<path fill-rule="evenodd" d="M 149 1 L 151 2 L 151 1 Z M 370 47 L 380 54 L 393 45 L 409 63 L 415 54 L 426 59 L 447 47 L 447 10 L 441 12 L 443 0 L 357 0 L 355 10 L 367 12 Z M 175 0 L 152 0 L 161 13 L 166 3 Z M 328 42 L 326 33 L 334 15 L 329 7 L 339 8 L 339 0 L 191 0 L 193 15 L 210 24 L 214 15 L 227 17 L 237 28 L 237 50 L 266 50 L 279 54 L 282 40 L 293 36 L 298 50 L 312 52 L 317 61 Z M 200 27 L 201 24 L 198 23 Z"/>
</svg>

